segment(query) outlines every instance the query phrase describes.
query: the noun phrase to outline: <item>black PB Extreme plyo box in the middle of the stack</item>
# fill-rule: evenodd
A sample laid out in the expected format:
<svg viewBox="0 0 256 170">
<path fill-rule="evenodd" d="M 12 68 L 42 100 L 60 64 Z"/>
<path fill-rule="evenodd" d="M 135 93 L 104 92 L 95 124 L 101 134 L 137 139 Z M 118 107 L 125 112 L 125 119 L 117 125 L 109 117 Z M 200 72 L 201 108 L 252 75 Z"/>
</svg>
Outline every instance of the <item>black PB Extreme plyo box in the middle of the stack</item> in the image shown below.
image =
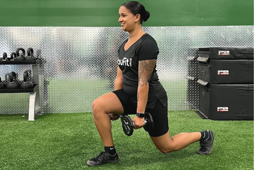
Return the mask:
<svg viewBox="0 0 256 170">
<path fill-rule="evenodd" d="M 199 63 L 198 79 L 212 84 L 253 84 L 254 60 L 209 59 Z"/>
</svg>

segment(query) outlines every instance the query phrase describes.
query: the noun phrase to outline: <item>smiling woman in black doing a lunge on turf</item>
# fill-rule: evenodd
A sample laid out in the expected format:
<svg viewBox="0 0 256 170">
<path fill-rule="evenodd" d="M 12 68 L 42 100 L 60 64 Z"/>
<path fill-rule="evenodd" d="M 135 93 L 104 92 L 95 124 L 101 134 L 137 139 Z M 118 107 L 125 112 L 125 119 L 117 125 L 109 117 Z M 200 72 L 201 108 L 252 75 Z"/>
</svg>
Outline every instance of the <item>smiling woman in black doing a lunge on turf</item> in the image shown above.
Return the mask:
<svg viewBox="0 0 256 170">
<path fill-rule="evenodd" d="M 93 102 L 93 120 L 105 150 L 87 161 L 87 165 L 119 161 L 111 133 L 111 119 L 117 119 L 115 114 L 136 114 L 132 121 L 135 123 L 134 129 L 139 129 L 144 126 L 144 113 L 150 113 L 154 128 L 148 134 L 162 153 L 181 150 L 200 141 L 197 153 L 209 154 L 214 139 L 214 133 L 210 130 L 169 136 L 167 95 L 156 71 L 159 50 L 154 38 L 142 29 L 149 12 L 141 3 L 130 1 L 119 8 L 119 16 L 118 21 L 122 30 L 129 32 L 129 39 L 122 43 L 118 51 L 114 91 Z"/>
</svg>

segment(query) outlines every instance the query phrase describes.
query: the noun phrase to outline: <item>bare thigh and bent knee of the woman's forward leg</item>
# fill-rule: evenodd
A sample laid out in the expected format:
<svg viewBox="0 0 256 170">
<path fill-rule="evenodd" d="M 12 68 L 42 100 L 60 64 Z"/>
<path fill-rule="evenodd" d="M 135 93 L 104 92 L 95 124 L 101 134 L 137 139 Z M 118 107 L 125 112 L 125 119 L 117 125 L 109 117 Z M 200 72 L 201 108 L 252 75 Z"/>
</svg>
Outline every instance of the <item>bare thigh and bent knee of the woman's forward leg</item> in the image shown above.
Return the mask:
<svg viewBox="0 0 256 170">
<path fill-rule="evenodd" d="M 122 103 L 116 94 L 110 92 L 93 101 L 93 112 L 104 111 L 105 113 L 123 114 Z"/>
</svg>

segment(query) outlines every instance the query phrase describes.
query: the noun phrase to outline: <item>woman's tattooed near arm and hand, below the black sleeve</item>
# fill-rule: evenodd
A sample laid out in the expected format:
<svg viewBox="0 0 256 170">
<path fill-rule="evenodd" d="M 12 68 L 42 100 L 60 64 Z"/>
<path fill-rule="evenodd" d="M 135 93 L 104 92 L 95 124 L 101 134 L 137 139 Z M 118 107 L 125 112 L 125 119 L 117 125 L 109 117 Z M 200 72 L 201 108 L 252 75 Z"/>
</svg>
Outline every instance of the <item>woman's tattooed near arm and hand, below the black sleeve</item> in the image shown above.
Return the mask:
<svg viewBox="0 0 256 170">
<path fill-rule="evenodd" d="M 138 91 L 137 91 L 137 112 L 145 113 L 145 108 L 148 101 L 148 89 L 149 89 L 149 79 L 157 63 L 156 59 L 142 60 L 139 61 L 138 68 Z M 137 116 L 133 119 L 135 123 L 135 129 L 141 128 L 144 125 L 144 118 L 139 118 Z"/>
</svg>

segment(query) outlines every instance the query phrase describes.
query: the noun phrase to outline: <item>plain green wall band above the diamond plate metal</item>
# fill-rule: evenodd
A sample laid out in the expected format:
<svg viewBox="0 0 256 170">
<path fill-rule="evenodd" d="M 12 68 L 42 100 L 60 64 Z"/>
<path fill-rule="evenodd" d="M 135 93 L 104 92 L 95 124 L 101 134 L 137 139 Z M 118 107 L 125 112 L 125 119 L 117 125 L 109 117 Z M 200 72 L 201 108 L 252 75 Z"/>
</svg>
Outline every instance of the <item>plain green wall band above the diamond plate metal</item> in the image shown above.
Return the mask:
<svg viewBox="0 0 256 170">
<path fill-rule="evenodd" d="M 127 0 L 0 0 L 0 26 L 120 26 Z M 252 26 L 253 0 L 140 0 L 143 26 Z"/>
</svg>

